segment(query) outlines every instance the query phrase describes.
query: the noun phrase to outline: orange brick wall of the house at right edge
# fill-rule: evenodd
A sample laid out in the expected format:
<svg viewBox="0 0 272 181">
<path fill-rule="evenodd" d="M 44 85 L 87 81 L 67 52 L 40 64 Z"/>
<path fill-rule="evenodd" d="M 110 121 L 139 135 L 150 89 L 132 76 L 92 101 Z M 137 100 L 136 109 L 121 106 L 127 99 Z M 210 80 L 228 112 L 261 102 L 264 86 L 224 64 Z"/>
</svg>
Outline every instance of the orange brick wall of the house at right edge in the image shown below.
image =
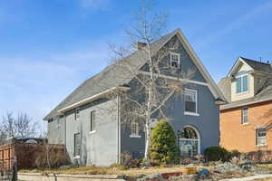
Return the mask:
<svg viewBox="0 0 272 181">
<path fill-rule="evenodd" d="M 256 127 L 272 124 L 272 101 L 250 105 L 248 108 L 248 124 L 241 124 L 241 110 L 221 110 L 220 113 L 220 145 L 228 150 L 238 149 L 240 152 L 272 149 L 272 129 L 267 130 L 267 147 L 256 147 Z M 271 113 L 270 113 L 271 112 Z"/>
</svg>

